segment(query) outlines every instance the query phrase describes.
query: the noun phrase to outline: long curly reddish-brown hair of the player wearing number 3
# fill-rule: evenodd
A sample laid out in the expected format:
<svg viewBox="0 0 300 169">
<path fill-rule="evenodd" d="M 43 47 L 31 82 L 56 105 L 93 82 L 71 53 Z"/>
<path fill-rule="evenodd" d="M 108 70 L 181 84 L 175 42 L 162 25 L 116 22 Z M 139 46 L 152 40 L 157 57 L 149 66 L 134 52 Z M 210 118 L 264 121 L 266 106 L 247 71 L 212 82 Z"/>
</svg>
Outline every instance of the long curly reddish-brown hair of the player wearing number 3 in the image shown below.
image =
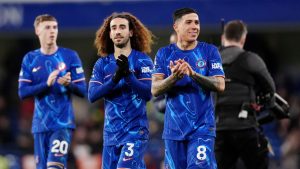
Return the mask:
<svg viewBox="0 0 300 169">
<path fill-rule="evenodd" d="M 104 19 L 103 24 L 96 32 L 96 39 L 94 45 L 97 48 L 97 54 L 99 56 L 106 56 L 114 52 L 114 43 L 110 39 L 110 22 L 115 18 L 124 18 L 128 20 L 129 30 L 132 30 L 133 35 L 130 37 L 132 49 L 150 53 L 151 45 L 153 44 L 154 35 L 152 32 L 146 28 L 142 22 L 128 12 L 113 13 L 106 19 Z"/>
</svg>

